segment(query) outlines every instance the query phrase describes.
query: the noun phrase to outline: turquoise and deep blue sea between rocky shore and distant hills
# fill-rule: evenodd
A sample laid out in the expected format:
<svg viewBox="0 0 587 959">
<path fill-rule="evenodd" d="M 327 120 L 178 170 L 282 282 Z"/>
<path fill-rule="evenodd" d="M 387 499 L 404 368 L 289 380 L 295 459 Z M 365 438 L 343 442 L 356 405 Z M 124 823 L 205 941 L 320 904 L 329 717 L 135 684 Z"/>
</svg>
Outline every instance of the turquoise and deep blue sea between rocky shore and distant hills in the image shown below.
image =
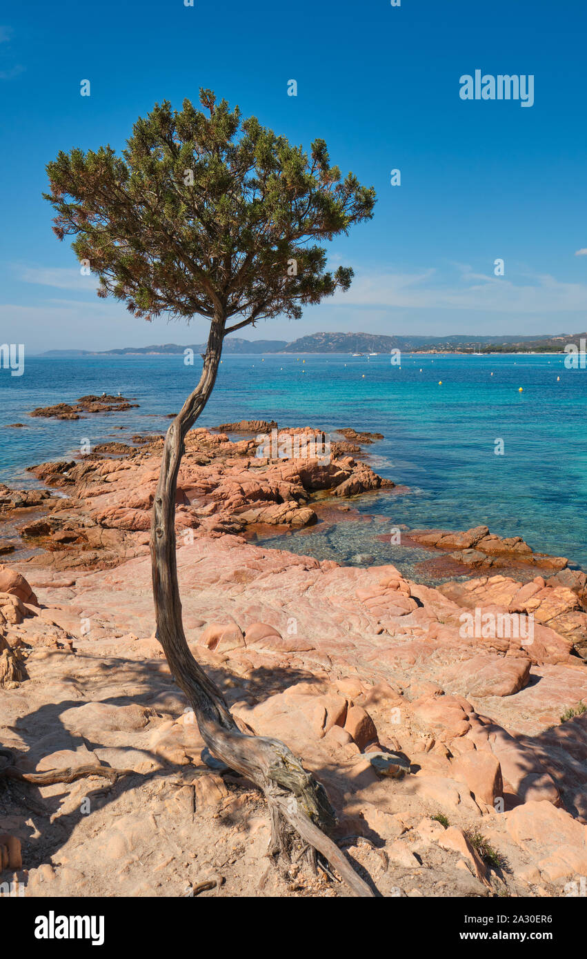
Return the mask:
<svg viewBox="0 0 587 959">
<path fill-rule="evenodd" d="M 199 372 L 199 358 L 186 366 L 182 356 L 33 357 L 22 377 L 0 369 L 0 480 L 33 485 L 27 466 L 79 453 L 83 439 L 94 445 L 165 430 L 166 414 L 179 409 Z M 27 416 L 37 406 L 119 390 L 140 408 L 77 421 Z M 389 526 L 486 524 L 587 568 L 586 399 L 587 371 L 568 370 L 555 356 L 405 354 L 401 369 L 387 356 L 229 356 L 200 425 L 254 418 L 384 433 L 365 453 L 410 492 L 353 503 L 379 519 L 372 533 L 358 525 L 351 535 L 345 527 L 355 525 L 341 524 L 328 547 L 339 559 L 372 554 L 372 534 L 385 532 L 388 518 Z M 4 429 L 14 422 L 27 425 Z M 505 456 L 494 453 L 498 438 Z M 310 551 L 312 536 L 285 539 L 289 549 Z"/>
</svg>

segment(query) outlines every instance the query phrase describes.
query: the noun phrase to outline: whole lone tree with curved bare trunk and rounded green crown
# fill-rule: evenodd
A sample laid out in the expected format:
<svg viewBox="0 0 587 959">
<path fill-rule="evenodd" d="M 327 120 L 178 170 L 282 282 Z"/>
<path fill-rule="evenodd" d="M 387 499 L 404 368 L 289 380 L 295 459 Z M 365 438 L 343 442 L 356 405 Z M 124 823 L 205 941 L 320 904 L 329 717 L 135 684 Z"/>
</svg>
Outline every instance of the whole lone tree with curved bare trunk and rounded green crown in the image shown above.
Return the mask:
<svg viewBox="0 0 587 959">
<path fill-rule="evenodd" d="M 78 259 L 134 316 L 202 316 L 210 330 L 200 382 L 166 435 L 153 503 L 151 552 L 156 636 L 177 685 L 194 709 L 216 757 L 263 789 L 270 808 L 273 854 L 295 841 L 315 865 L 323 855 L 353 891 L 368 886 L 327 833 L 334 810 L 323 787 L 283 743 L 237 727 L 220 690 L 185 639 L 176 572 L 176 479 L 186 433 L 214 387 L 223 338 L 302 308 L 337 290 L 353 271 L 327 269 L 320 246 L 372 217 L 373 188 L 342 178 L 326 144 L 310 155 L 276 136 L 238 107 L 200 90 L 176 111 L 164 101 L 134 124 L 127 149 L 59 152 L 47 165 L 60 240 L 74 236 Z M 293 802 L 293 799 L 295 800 Z"/>
</svg>

